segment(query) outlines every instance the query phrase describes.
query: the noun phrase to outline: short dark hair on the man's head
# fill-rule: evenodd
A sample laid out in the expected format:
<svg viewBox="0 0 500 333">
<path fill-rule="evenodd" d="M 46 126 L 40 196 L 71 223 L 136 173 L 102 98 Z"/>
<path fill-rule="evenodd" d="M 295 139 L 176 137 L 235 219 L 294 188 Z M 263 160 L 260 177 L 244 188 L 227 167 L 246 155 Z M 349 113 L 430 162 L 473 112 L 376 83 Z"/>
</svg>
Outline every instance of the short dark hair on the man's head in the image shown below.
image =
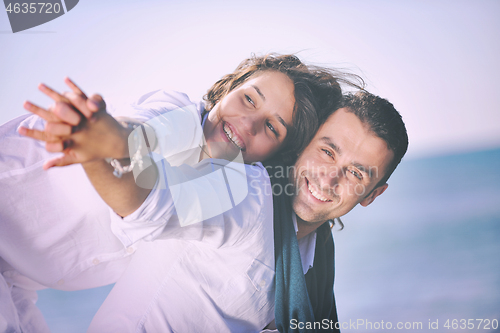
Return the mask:
<svg viewBox="0 0 500 333">
<path fill-rule="evenodd" d="M 340 108 L 354 113 L 394 153 L 384 177 L 375 188 L 384 185 L 408 149 L 408 134 L 401 115 L 388 100 L 364 90 L 345 95 Z"/>
</svg>

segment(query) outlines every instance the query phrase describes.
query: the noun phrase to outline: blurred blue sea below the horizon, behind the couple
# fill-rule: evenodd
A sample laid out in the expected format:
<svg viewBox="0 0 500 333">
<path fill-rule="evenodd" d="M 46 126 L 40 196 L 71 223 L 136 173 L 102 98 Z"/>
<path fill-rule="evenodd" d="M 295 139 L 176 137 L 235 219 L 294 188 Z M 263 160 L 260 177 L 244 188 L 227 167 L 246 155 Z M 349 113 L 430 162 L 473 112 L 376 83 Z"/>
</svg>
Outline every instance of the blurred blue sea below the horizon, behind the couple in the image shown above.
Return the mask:
<svg viewBox="0 0 500 333">
<path fill-rule="evenodd" d="M 500 149 L 403 160 L 382 196 L 342 220 L 345 229 L 334 231 L 342 332 L 497 328 Z M 37 304 L 54 333 L 85 332 L 110 290 L 42 290 Z M 454 330 L 453 319 L 458 328 L 473 319 L 474 328 Z"/>
</svg>

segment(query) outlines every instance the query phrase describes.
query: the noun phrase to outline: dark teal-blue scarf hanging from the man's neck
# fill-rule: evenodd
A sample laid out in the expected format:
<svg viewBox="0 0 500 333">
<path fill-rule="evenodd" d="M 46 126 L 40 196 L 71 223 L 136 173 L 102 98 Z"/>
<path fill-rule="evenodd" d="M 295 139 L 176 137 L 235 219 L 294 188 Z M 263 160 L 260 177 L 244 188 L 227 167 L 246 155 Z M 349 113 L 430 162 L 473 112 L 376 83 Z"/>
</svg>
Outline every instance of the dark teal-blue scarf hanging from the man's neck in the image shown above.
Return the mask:
<svg viewBox="0 0 500 333">
<path fill-rule="evenodd" d="M 317 229 L 314 266 L 304 276 L 292 222 L 291 198 L 284 191 L 289 181 L 279 173 L 277 166 L 276 161 L 266 165 L 273 190 L 281 192 L 281 195 L 273 194 L 276 327 L 281 333 L 339 332 L 335 329 L 338 319 L 333 294 L 334 246 L 329 223 Z M 281 177 L 273 177 L 275 174 Z"/>
</svg>

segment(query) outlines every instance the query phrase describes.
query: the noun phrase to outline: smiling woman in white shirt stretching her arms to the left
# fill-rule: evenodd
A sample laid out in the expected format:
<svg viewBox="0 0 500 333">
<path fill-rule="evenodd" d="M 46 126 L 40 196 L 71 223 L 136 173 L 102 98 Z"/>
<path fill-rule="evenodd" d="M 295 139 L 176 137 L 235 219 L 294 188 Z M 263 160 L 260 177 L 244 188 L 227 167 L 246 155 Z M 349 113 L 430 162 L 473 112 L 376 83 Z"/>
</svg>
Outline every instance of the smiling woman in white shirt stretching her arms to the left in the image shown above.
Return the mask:
<svg viewBox="0 0 500 333">
<path fill-rule="evenodd" d="M 201 327 L 196 326 L 200 323 L 176 319 L 193 319 L 200 313 L 210 313 L 204 318 L 204 330 L 263 328 L 272 320 L 274 306 L 272 199 L 264 196 L 269 178 L 260 163 L 252 166 L 235 163 L 240 165 L 238 167 L 217 159 L 227 158 L 227 153 L 239 153 L 240 150 L 246 163 L 258 162 L 276 153 L 295 158 L 313 135 L 320 119 L 340 102 L 339 82 L 345 81 L 345 77 L 331 69 L 307 66 L 293 55 L 252 57 L 209 90 L 205 106 L 191 102 L 181 93 L 157 91 L 145 95 L 134 105 L 135 122 L 128 124 L 108 114 L 99 96 L 87 98 L 70 80 L 66 83 L 72 93 L 64 96 L 42 86 L 41 90 L 57 102 L 52 112 L 30 103 L 25 106 L 46 120 L 44 131 L 41 131 L 44 122 L 37 116 L 15 119 L 0 131 L 1 153 L 5 156 L 0 181 L 4 193 L 8 193 L 8 197 L 0 198 L 8 207 L 2 206 L 0 211 L 4 230 L 9 230 L 0 235 L 0 257 L 9 264 L 6 267 L 11 271 L 6 274 L 0 267 L 3 276 L 7 282 L 21 286 L 21 280 L 15 278 L 21 276 L 21 272 L 37 285 L 64 290 L 102 286 L 123 276 L 122 282 L 117 282 L 117 291 L 112 292 L 105 303 L 108 307 L 96 317 L 93 326 L 96 331 L 113 328 L 100 326 L 103 318 L 110 325 L 128 328 L 147 322 L 154 327 L 152 331 L 163 331 L 166 327 L 177 331 L 200 331 Z M 75 109 L 88 117 L 88 121 L 80 122 Z M 169 114 L 181 114 L 184 120 L 172 121 L 175 117 L 169 118 Z M 138 163 L 135 153 L 140 149 L 133 145 L 127 147 L 129 134 L 137 129 L 149 131 L 146 125 L 155 117 L 164 121 L 157 124 L 168 128 L 164 140 L 158 136 L 159 146 L 174 152 L 184 151 L 186 143 L 199 148 L 204 144 L 202 133 L 205 133 L 209 156 L 194 150 L 194 160 L 181 158 L 171 165 L 168 159 L 161 161 L 157 169 L 150 168 L 154 186 L 147 188 L 139 186 L 131 173 L 116 178 L 105 158 L 130 156 Z M 82 163 L 91 184 L 80 168 L 43 171 L 43 160 L 54 155 L 48 154 L 39 142 L 17 135 L 19 127 L 20 133 L 47 141 L 47 149 L 64 153 L 45 167 Z M 153 126 L 155 131 L 157 128 Z M 153 146 L 154 140 L 145 138 L 144 141 Z M 152 137 L 147 134 L 147 138 Z M 138 141 L 134 140 L 131 142 L 136 144 Z M 219 143 L 225 148 L 218 150 Z M 30 154 L 25 155 L 25 152 Z M 144 162 L 147 156 L 142 158 Z M 201 159 L 203 161 L 199 162 Z M 126 159 L 121 161 L 125 162 Z M 224 193 L 228 188 L 231 189 L 227 199 L 229 206 L 213 218 L 192 227 L 181 227 L 180 209 L 174 206 L 175 198 L 172 199 L 174 186 L 179 184 L 172 182 L 167 169 L 189 180 L 186 183 L 191 187 L 185 192 L 187 199 L 183 201 L 189 213 L 195 214 L 200 207 L 204 208 L 204 202 L 211 205 L 210 209 L 226 207 Z M 210 178 L 223 174 L 233 181 L 241 170 L 249 174 L 248 178 L 243 177 L 245 187 L 226 186 L 232 183 L 224 182 L 219 186 Z M 158 175 L 161 177 L 157 178 Z M 247 183 L 250 178 L 255 179 L 254 176 L 260 186 L 258 189 Z M 191 182 L 195 179 L 200 182 Z M 165 189 L 162 184 L 169 188 Z M 90 185 L 114 212 L 109 213 Z M 248 195 L 244 188 L 248 189 Z M 240 197 L 241 204 L 237 204 L 235 197 Z M 37 212 L 36 216 L 29 213 L 33 211 Z M 179 242 L 165 243 L 156 241 L 157 238 Z M 140 240 L 155 242 L 139 246 L 144 244 Z M 194 247 L 193 241 L 197 244 Z M 203 251 L 195 251 L 197 246 L 203 247 Z M 226 246 L 231 246 L 231 251 L 226 253 Z M 190 253 L 191 264 L 183 266 L 182 274 L 171 274 L 173 267 L 184 265 L 180 256 L 184 250 Z M 132 261 L 132 268 L 127 268 L 131 256 L 137 259 Z M 143 265 L 147 265 L 147 269 Z M 126 275 L 122 275 L 124 271 Z M 158 282 L 168 276 L 169 284 L 162 284 L 161 288 L 167 286 L 166 289 L 155 289 L 148 281 L 136 281 L 138 272 L 144 272 L 141 279 L 148 281 Z M 185 288 L 172 289 L 179 285 Z M 136 292 L 125 291 L 131 286 Z M 259 292 L 255 286 L 259 286 Z M 163 298 L 155 303 L 153 312 L 146 311 L 150 296 L 157 292 Z M 175 300 L 170 298 L 174 296 Z M 130 314 L 129 322 L 113 320 L 143 305 L 144 308 Z M 155 316 L 146 320 L 141 317 L 146 316 L 142 310 Z M 30 317 L 32 313 L 20 313 L 20 316 L 37 318 Z M 227 318 L 239 320 L 233 322 Z"/>
</svg>

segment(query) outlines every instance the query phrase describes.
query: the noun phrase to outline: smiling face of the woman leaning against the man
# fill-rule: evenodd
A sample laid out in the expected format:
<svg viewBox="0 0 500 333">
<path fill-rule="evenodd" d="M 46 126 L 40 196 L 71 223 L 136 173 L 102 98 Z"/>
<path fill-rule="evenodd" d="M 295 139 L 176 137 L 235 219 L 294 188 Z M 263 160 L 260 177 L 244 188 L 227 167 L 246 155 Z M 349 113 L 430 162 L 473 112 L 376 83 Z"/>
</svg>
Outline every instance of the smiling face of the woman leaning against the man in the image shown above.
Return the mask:
<svg viewBox="0 0 500 333">
<path fill-rule="evenodd" d="M 292 126 L 294 84 L 275 71 L 256 73 L 210 111 L 203 133 L 213 158 L 263 161 L 283 144 Z"/>
</svg>

